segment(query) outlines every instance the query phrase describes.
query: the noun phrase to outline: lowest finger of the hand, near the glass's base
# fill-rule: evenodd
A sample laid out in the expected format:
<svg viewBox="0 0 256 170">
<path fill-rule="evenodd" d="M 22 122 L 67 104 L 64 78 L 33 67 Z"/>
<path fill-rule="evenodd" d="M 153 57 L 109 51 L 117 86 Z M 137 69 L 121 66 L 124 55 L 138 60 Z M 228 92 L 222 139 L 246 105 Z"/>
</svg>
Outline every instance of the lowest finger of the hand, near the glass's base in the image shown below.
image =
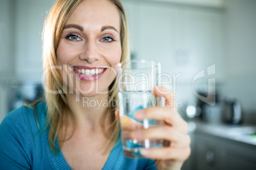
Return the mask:
<svg viewBox="0 0 256 170">
<path fill-rule="evenodd" d="M 190 147 L 187 148 L 142 148 L 140 150 L 143 157 L 148 157 L 150 159 L 173 159 L 177 161 L 184 161 L 190 155 Z"/>
</svg>

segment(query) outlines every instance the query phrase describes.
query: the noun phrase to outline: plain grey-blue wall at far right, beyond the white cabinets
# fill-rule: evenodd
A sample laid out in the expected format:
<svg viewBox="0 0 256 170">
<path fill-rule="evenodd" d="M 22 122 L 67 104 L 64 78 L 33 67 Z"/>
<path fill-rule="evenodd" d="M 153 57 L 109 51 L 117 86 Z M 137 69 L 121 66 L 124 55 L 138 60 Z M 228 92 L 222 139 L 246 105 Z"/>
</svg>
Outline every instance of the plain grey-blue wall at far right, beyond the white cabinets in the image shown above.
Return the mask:
<svg viewBox="0 0 256 170">
<path fill-rule="evenodd" d="M 238 98 L 245 114 L 254 114 L 255 117 L 256 1 L 227 0 L 225 3 L 227 76 L 221 88 L 222 96 Z M 246 117 L 250 119 L 249 115 Z"/>
</svg>

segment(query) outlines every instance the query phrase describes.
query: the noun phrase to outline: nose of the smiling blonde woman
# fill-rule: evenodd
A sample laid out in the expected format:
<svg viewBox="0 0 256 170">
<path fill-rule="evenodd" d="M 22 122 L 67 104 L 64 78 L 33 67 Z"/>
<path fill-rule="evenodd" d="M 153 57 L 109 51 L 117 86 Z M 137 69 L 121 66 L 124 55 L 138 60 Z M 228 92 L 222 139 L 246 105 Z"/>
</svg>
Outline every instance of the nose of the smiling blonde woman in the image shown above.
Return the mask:
<svg viewBox="0 0 256 170">
<path fill-rule="evenodd" d="M 86 60 L 88 63 L 93 63 L 101 58 L 96 42 L 87 41 L 83 53 L 79 55 L 80 60 Z"/>
</svg>

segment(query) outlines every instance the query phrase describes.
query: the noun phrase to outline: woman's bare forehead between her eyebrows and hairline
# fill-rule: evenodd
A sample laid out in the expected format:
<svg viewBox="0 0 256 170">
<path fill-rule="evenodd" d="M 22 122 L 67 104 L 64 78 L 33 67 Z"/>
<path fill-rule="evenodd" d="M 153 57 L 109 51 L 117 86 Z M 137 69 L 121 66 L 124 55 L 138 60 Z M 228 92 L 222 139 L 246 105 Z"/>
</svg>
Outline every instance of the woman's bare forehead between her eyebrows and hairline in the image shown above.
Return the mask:
<svg viewBox="0 0 256 170">
<path fill-rule="evenodd" d="M 110 25 L 120 32 L 120 15 L 117 7 L 108 0 L 83 0 L 76 6 L 68 19 L 68 24 L 78 24 L 85 29 L 101 29 Z"/>
</svg>

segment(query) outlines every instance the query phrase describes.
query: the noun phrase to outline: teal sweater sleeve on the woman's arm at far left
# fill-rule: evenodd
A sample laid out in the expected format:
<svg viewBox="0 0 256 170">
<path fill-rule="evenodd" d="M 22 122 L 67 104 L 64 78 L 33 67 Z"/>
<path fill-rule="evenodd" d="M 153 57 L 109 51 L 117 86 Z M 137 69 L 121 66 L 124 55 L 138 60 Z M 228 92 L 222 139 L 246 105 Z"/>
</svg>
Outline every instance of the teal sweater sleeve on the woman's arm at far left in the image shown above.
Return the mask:
<svg viewBox="0 0 256 170">
<path fill-rule="evenodd" d="M 31 169 L 23 110 L 13 110 L 0 124 L 0 169 Z"/>
</svg>

